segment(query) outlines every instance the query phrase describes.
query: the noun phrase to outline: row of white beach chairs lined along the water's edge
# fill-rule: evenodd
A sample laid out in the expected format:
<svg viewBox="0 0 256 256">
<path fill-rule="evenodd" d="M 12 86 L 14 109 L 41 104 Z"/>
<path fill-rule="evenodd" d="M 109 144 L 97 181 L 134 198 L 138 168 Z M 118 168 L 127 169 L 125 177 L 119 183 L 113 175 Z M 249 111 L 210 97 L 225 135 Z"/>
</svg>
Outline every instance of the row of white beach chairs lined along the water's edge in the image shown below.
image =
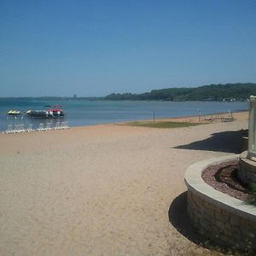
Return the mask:
<svg viewBox="0 0 256 256">
<path fill-rule="evenodd" d="M 27 128 L 25 128 L 24 124 L 17 124 L 17 125 L 8 125 L 7 130 L 3 131 L 5 134 L 9 133 L 20 133 L 20 132 L 30 132 L 30 131 L 49 131 L 49 130 L 63 130 L 67 129 L 68 122 L 56 122 L 54 127 L 50 126 L 50 123 L 44 125 L 44 123 L 40 123 L 38 129 L 32 129 L 32 124 L 29 124 Z"/>
</svg>

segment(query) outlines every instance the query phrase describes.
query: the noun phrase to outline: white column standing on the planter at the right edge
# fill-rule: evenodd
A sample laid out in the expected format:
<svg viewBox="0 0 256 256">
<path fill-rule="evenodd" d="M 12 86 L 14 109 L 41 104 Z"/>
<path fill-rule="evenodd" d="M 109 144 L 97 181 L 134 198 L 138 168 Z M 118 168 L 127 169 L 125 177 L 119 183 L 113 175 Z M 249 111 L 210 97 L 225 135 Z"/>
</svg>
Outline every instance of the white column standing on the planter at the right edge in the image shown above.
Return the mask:
<svg viewBox="0 0 256 256">
<path fill-rule="evenodd" d="M 247 158 L 256 161 L 256 96 L 250 96 L 249 139 Z"/>
</svg>

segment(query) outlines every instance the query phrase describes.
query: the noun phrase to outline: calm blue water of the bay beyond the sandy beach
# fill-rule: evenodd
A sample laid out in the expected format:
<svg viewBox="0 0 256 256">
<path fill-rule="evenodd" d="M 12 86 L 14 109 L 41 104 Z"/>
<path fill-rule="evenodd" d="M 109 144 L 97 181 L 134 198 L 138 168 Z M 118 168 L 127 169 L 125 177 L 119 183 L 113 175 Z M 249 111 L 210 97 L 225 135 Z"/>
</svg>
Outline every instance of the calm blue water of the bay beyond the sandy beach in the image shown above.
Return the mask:
<svg viewBox="0 0 256 256">
<path fill-rule="evenodd" d="M 29 109 L 47 109 L 45 106 L 61 105 L 67 113 L 64 119 L 30 119 L 26 117 Z M 9 117 L 10 109 L 19 110 L 20 116 Z M 0 131 L 8 125 L 33 125 L 37 129 L 39 123 L 68 121 L 69 126 L 97 125 L 131 120 L 156 119 L 180 116 L 197 116 L 209 113 L 236 112 L 248 109 L 248 102 L 130 102 L 130 101 L 35 101 L 0 99 Z"/>
</svg>

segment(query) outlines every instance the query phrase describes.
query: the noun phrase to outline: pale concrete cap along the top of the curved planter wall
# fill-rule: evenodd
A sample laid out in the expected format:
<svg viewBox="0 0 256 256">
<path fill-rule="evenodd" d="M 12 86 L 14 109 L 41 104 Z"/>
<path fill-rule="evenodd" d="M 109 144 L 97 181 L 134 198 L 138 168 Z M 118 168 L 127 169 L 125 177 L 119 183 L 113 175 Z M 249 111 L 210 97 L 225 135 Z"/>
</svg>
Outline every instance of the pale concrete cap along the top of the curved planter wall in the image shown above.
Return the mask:
<svg viewBox="0 0 256 256">
<path fill-rule="evenodd" d="M 218 165 L 230 160 L 238 160 L 238 158 L 239 155 L 233 154 L 196 162 L 186 169 L 184 181 L 191 192 L 204 200 L 228 212 L 232 212 L 241 218 L 247 218 L 256 222 L 256 207 L 247 205 L 244 201 L 213 189 L 201 177 L 201 173 L 208 166 Z"/>
</svg>

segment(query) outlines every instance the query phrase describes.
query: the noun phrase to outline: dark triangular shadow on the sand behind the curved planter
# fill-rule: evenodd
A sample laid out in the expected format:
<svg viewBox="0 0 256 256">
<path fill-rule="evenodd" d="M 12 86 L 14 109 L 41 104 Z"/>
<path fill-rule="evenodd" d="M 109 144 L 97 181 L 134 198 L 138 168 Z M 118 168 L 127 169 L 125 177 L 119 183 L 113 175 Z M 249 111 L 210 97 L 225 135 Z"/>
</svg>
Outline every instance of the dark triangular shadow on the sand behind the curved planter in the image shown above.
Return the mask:
<svg viewBox="0 0 256 256">
<path fill-rule="evenodd" d="M 179 149 L 194 149 L 218 151 L 226 153 L 241 153 L 241 134 L 242 131 L 222 131 L 213 133 L 211 137 L 205 140 L 179 145 L 174 148 Z"/>
</svg>

